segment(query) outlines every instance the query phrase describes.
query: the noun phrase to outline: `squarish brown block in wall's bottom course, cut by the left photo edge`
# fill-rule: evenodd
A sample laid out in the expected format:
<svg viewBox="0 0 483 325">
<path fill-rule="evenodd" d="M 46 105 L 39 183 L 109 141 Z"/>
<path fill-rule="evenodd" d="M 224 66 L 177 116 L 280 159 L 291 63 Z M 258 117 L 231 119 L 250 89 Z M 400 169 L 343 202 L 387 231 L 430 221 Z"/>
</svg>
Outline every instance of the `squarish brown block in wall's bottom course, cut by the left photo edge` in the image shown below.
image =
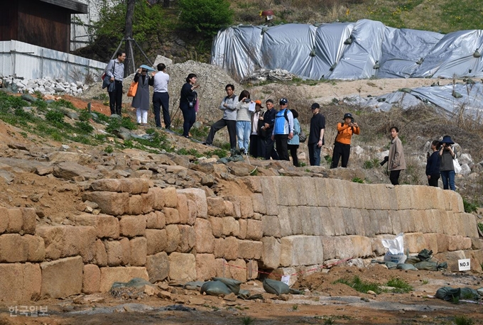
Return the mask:
<svg viewBox="0 0 483 325">
<path fill-rule="evenodd" d="M 1 211 L 0 211 L 1 213 Z M 0 264 L 0 300 L 28 302 L 38 299 L 42 285 L 40 265 L 31 263 Z"/>
</svg>

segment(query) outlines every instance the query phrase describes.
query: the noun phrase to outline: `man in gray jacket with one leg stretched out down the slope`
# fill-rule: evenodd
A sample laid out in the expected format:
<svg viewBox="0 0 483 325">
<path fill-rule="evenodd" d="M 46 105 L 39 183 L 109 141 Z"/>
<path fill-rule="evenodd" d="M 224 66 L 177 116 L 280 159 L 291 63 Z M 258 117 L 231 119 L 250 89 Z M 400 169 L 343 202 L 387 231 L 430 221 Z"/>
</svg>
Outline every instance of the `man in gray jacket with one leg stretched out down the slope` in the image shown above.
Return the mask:
<svg viewBox="0 0 483 325">
<path fill-rule="evenodd" d="M 226 126 L 228 129 L 229 146 L 233 151 L 237 149 L 237 108 L 235 105 L 238 103 L 238 96 L 234 94 L 235 87 L 233 84 L 227 84 L 224 90 L 227 92 L 227 96 L 224 97 L 222 104 L 219 104 L 218 107 L 218 109 L 223 111 L 223 117 L 213 123 L 210 128 L 210 133 L 208 133 L 206 141 L 203 144 L 212 145 L 215 134 Z"/>
</svg>

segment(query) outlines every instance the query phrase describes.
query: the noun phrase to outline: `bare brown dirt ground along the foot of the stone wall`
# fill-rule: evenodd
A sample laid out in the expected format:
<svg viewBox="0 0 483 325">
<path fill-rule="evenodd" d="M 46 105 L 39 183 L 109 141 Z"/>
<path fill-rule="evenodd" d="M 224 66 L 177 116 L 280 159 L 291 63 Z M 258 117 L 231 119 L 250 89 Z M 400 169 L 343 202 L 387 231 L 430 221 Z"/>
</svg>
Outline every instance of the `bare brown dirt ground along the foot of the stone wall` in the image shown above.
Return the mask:
<svg viewBox="0 0 483 325">
<path fill-rule="evenodd" d="M 343 284 L 340 278 L 354 275 L 363 281 L 385 283 L 398 277 L 414 290 L 406 294 L 364 294 Z M 11 316 L 12 304 L 0 304 L 0 324 L 453 324 L 455 316 L 467 316 L 482 324 L 481 304 L 445 302 L 432 298 L 444 286 L 481 287 L 482 277 L 450 272 L 387 270 L 336 266 L 300 279 L 294 287 L 303 295 L 283 299 L 264 294 L 265 299 L 227 301 L 197 291 L 170 287 L 170 299 L 156 296 L 118 299 L 109 294 L 41 299 L 29 307 L 47 307 L 48 316 Z M 263 293 L 261 282 L 242 285 L 251 294 Z M 14 305 L 14 304 L 13 304 Z M 466 323 L 468 324 L 468 323 Z"/>
</svg>

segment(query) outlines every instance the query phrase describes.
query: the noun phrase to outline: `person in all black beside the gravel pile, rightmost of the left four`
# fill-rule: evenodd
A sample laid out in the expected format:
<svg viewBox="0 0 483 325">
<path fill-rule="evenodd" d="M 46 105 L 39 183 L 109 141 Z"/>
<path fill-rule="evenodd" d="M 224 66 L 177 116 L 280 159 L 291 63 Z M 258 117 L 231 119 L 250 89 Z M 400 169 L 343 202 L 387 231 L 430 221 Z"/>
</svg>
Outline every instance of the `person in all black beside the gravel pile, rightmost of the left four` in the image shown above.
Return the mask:
<svg viewBox="0 0 483 325">
<path fill-rule="evenodd" d="M 180 95 L 180 110 L 183 112 L 183 136 L 190 138 L 190 129 L 196 121 L 195 104 L 197 99 L 197 92 L 195 89 L 200 85 L 196 84 L 197 76 L 194 73 L 190 73 L 186 77 L 186 83 L 181 88 Z"/>
</svg>

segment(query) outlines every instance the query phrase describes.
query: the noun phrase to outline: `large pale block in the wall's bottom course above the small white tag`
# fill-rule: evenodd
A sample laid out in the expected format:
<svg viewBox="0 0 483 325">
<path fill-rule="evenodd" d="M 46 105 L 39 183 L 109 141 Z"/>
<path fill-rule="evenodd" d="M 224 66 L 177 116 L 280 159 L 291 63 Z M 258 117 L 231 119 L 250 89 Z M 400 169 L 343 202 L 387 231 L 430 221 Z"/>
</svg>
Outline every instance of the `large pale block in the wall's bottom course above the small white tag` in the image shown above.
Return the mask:
<svg viewBox="0 0 483 325">
<path fill-rule="evenodd" d="M 320 236 L 288 236 L 281 238 L 281 266 L 322 264 L 324 254 Z"/>
</svg>

